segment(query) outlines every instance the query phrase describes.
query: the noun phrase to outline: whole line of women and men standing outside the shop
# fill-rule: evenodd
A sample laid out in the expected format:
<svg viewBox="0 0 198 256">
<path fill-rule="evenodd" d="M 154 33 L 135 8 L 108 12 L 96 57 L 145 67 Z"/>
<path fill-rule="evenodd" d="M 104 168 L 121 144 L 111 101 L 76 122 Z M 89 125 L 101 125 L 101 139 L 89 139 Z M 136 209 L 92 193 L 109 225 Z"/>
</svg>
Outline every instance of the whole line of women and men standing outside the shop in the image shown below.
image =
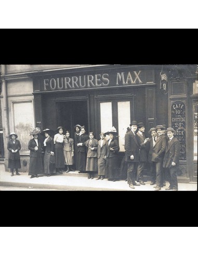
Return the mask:
<svg viewBox="0 0 198 256">
<path fill-rule="evenodd" d="M 33 136 L 29 141 L 30 150 L 30 178 L 38 177 L 43 173 L 48 177 L 54 173 L 70 172 L 77 170 L 79 173 L 88 173 L 88 179 L 93 179 L 98 173 L 96 180 L 108 178 L 115 182 L 118 178 L 117 152 L 120 150 L 116 140 L 117 132 L 115 127 L 100 133 L 100 140 L 94 137 L 93 132 L 86 134 L 85 126 L 75 125 L 74 139 L 70 138 L 70 132 L 64 131 L 59 126 L 56 132 L 45 129 L 41 132 L 38 127 L 30 131 Z M 137 131 L 138 129 L 138 131 Z M 125 134 L 125 162 L 127 163 L 127 182 L 130 188 L 146 185 L 143 182 L 143 169 L 148 161 L 151 165 L 151 184 L 155 190 L 161 190 L 168 180 L 170 186 L 166 190 L 178 190 L 176 168 L 179 165 L 180 144 L 174 137 L 174 129 L 167 130 L 163 125 L 157 125 L 150 129 L 151 138 L 144 136 L 144 124 L 133 121 Z M 45 137 L 42 142 L 38 137 L 41 134 Z M 109 135 L 109 139 L 105 136 Z M 17 140 L 17 134 L 11 133 L 8 142 L 8 168 L 11 169 L 11 176 L 20 175 L 21 168 L 19 150 L 21 145 Z M 44 160 L 42 150 L 45 149 Z M 65 167 L 66 170 L 65 170 Z M 74 169 L 73 169 L 74 167 Z M 136 183 L 136 181 L 138 183 Z"/>
</svg>

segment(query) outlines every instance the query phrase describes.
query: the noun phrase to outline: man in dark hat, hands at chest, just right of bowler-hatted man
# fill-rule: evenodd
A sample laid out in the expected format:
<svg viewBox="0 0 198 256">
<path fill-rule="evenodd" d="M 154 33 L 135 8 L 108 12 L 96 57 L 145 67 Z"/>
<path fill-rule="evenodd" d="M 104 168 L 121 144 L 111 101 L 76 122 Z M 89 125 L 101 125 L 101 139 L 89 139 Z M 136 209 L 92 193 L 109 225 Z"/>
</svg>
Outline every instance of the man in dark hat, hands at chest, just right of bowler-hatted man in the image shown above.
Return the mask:
<svg viewBox="0 0 198 256">
<path fill-rule="evenodd" d="M 139 156 L 139 163 L 138 163 L 138 169 L 137 169 L 137 182 L 139 182 L 141 185 L 146 185 L 143 182 L 143 169 L 145 162 L 147 162 L 147 150 L 146 150 L 146 142 L 147 139 L 144 136 L 145 127 L 143 123 L 138 123 L 138 138 L 140 143 L 140 156 Z"/>
</svg>

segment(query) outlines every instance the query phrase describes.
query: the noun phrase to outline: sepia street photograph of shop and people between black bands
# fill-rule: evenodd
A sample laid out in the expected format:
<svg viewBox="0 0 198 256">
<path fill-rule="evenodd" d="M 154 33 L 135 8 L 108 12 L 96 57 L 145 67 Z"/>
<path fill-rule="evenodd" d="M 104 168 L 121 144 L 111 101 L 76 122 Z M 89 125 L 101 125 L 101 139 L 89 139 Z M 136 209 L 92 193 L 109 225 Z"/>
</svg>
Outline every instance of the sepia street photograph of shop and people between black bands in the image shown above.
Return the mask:
<svg viewBox="0 0 198 256">
<path fill-rule="evenodd" d="M 198 65 L 1 65 L 0 190 L 196 191 Z"/>
</svg>

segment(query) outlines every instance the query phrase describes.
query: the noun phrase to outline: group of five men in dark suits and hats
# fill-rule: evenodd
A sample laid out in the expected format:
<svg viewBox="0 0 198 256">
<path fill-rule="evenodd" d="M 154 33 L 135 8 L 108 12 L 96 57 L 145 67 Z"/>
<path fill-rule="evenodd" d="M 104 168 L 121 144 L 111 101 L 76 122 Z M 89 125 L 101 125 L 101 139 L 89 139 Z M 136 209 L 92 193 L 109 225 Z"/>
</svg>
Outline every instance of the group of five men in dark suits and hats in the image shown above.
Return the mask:
<svg viewBox="0 0 198 256">
<path fill-rule="evenodd" d="M 145 185 L 143 182 L 143 168 L 147 162 L 151 166 L 151 184 L 155 191 L 166 186 L 165 190 L 178 190 L 177 167 L 179 165 L 180 143 L 174 137 L 173 128 L 157 125 L 149 131 L 151 138 L 145 138 L 143 123 L 133 121 L 125 135 L 125 161 L 127 162 L 127 182 L 130 188 Z M 138 129 L 138 132 L 137 132 Z M 148 159 L 147 159 L 148 157 Z M 136 183 L 137 182 L 139 183 Z"/>
</svg>

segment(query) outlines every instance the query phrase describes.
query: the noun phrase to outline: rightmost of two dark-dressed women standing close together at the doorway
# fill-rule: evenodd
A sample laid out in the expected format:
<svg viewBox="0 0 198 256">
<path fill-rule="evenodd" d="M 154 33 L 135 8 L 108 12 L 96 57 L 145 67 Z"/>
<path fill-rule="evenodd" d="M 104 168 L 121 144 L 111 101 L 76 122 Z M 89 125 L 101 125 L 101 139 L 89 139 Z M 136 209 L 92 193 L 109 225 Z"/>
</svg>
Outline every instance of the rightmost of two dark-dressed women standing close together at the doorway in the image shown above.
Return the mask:
<svg viewBox="0 0 198 256">
<path fill-rule="evenodd" d="M 85 172 L 86 160 L 87 160 L 87 148 L 85 142 L 89 139 L 89 136 L 85 134 L 85 126 L 81 127 L 81 135 L 79 136 L 79 143 L 77 144 L 77 162 L 76 169 L 78 173 Z"/>
</svg>

